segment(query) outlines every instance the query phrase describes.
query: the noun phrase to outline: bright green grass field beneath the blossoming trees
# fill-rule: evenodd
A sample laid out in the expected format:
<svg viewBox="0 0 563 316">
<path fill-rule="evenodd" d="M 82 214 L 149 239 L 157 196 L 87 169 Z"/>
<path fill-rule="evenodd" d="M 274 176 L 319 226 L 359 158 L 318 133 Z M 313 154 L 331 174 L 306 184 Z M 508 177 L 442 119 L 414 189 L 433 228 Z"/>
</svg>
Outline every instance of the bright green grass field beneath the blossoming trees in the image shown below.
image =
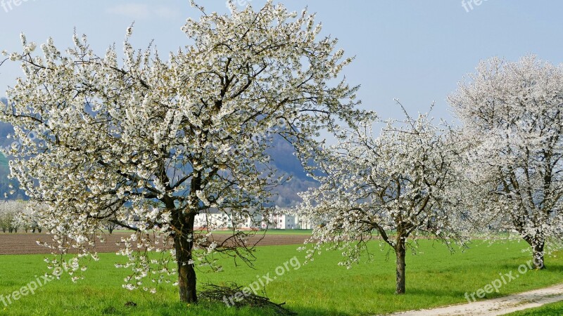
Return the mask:
<svg viewBox="0 0 563 316">
<path fill-rule="evenodd" d="M 377 244 L 377 255 L 371 263 L 360 263 L 352 269 L 336 265 L 339 254 L 324 252 L 307 265 L 286 265 L 288 269 L 265 286 L 272 301 L 286 302 L 299 315 L 370 315 L 398 310 L 431 308 L 467 302 L 464 294 L 472 293 L 499 278 L 499 273 L 519 274 L 519 265 L 529 261 L 522 252 L 524 243 L 481 244 L 476 242 L 466 252 L 449 254 L 441 244 L 423 240 L 417 255 L 407 258 L 407 294 L 393 294 L 394 258 Z M 198 282 L 234 281 L 247 286 L 257 276 L 275 275 L 294 256 L 303 263 L 304 254 L 296 245 L 262 246 L 256 254 L 255 269 L 234 268 L 224 260 L 223 272 L 200 272 Z M 126 270 L 116 269 L 122 257 L 101 254 L 101 261 L 91 263 L 85 279 L 73 284 L 68 276 L 53 280 L 5 307 L 0 301 L 0 315 L 273 315 L 271 311 L 227 308 L 222 303 L 201 302 L 186 306 L 177 302 L 177 289 L 171 285 L 158 288 L 157 294 L 122 289 Z M 42 255 L 0 256 L 0 295 L 7 296 L 46 272 Z M 296 263 L 296 259 L 293 263 Z M 498 293 L 487 298 L 526 291 L 563 282 L 563 258 L 548 258 L 547 270 L 519 274 Z M 125 306 L 134 302 L 136 306 Z M 527 314 L 526 314 L 527 315 Z"/>
</svg>

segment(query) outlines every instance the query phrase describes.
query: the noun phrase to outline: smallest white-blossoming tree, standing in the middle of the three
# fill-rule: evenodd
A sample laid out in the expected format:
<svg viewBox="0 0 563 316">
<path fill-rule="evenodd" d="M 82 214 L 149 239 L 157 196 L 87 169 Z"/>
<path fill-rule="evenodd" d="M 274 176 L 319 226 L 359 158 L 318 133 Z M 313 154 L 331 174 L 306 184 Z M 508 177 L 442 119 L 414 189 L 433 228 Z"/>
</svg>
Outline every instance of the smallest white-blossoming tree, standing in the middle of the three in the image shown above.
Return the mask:
<svg viewBox="0 0 563 316">
<path fill-rule="evenodd" d="M 423 232 L 464 242 L 457 228 L 453 134 L 426 114 L 389 121 L 378 138 L 369 129 L 348 133 L 317 159 L 320 187 L 304 192 L 298 213 L 321 223 L 308 239 L 308 258 L 328 249 L 343 251 L 341 265 L 360 260 L 376 233 L 396 254 L 396 294 L 405 293 L 405 254 Z M 306 248 L 306 247 L 304 247 Z"/>
</svg>

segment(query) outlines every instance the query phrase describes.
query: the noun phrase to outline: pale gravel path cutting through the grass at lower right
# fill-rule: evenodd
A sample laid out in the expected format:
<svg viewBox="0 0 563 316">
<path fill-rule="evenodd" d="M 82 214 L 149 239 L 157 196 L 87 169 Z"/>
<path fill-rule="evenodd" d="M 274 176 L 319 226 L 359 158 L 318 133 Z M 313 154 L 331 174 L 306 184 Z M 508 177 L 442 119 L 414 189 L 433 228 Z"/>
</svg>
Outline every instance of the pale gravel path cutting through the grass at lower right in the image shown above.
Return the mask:
<svg viewBox="0 0 563 316">
<path fill-rule="evenodd" d="M 493 298 L 486 301 L 474 303 L 445 306 L 443 308 L 433 308 L 429 310 L 412 310 L 409 312 L 397 312 L 393 316 L 453 316 L 453 315 L 505 315 L 517 310 L 537 308 L 548 303 L 563 301 L 563 284 L 557 284 L 544 289 L 512 294 L 500 298 Z"/>
</svg>

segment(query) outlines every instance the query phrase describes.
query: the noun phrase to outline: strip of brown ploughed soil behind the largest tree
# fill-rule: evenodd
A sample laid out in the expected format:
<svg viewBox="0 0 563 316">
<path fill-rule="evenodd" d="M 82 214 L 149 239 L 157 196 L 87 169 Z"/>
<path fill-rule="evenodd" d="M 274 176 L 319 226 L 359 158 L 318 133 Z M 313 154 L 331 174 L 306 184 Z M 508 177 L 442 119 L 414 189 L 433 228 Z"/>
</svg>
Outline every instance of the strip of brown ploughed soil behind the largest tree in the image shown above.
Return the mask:
<svg viewBox="0 0 563 316">
<path fill-rule="evenodd" d="M 98 252 L 116 252 L 122 248 L 116 243 L 121 237 L 131 235 L 126 232 L 114 232 L 112 235 L 106 235 L 106 242 L 96 244 Z M 213 235 L 215 241 L 222 242 L 229 237 L 226 234 Z M 307 235 L 262 235 L 256 234 L 248 239 L 249 244 L 258 243 L 258 246 L 271 246 L 281 244 L 303 244 L 307 239 Z M 7 234 L 0 232 L 0 255 L 4 254 L 51 254 L 51 249 L 45 246 L 39 246 L 37 240 L 42 242 L 51 242 L 51 235 L 46 234 Z M 70 252 L 72 252 L 71 249 Z"/>
</svg>

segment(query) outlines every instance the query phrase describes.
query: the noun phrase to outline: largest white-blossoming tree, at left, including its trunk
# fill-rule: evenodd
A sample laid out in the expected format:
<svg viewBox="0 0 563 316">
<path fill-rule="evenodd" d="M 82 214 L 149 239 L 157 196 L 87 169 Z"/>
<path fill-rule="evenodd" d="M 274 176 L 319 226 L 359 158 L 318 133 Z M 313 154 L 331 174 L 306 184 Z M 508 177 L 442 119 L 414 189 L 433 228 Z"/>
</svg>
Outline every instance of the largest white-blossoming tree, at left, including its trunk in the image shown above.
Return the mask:
<svg viewBox="0 0 563 316">
<path fill-rule="evenodd" d="M 356 109 L 357 87 L 339 78 L 351 59 L 336 39 L 319 36 L 314 18 L 272 1 L 260 11 L 204 13 L 187 20 L 190 44 L 167 61 L 150 47 L 135 51 L 132 28 L 122 61 L 115 47 L 96 55 L 85 36 L 64 52 L 49 39 L 36 54 L 22 35 L 23 52 L 10 58 L 24 76 L 9 88 L 0 119 L 23 140 L 9 152 L 11 174 L 44 206 L 34 218 L 53 234 L 53 247 L 96 260 L 106 220 L 136 230 L 122 239 L 132 269 L 124 286 L 155 291 L 153 282 L 177 274 L 184 302 L 196 302 L 194 265 L 213 263 L 208 254 L 250 260 L 239 223 L 259 223 L 270 189 L 284 180 L 271 176 L 272 137 L 306 158 L 318 147 L 312 136 L 370 116 Z M 30 132 L 37 138 L 26 138 Z M 207 233 L 194 232 L 205 213 Z M 225 241 L 210 235 L 224 227 L 213 213 L 232 222 Z M 169 240 L 172 250 L 163 251 Z M 85 268 L 70 262 L 70 273 Z"/>
</svg>

